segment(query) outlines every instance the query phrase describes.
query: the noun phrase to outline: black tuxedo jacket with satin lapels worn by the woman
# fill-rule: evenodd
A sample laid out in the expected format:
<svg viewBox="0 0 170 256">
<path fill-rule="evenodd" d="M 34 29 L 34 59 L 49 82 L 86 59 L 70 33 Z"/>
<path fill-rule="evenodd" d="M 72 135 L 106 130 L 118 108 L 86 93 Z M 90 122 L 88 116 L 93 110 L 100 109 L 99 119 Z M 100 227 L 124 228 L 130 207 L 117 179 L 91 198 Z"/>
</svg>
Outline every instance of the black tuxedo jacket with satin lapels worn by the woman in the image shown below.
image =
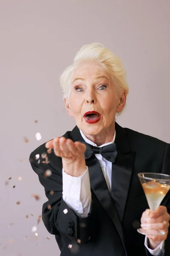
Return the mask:
<svg viewBox="0 0 170 256">
<path fill-rule="evenodd" d="M 77 126 L 64 137 L 83 140 Z M 48 198 L 42 207 L 42 221 L 55 235 L 61 256 L 150 256 L 144 246 L 145 236 L 136 231 L 142 212 L 149 208 L 137 174 L 170 174 L 170 144 L 117 123 L 115 143 L 118 155 L 112 164 L 111 193 L 96 157 L 86 160 L 92 194 L 87 218 L 79 218 L 62 199 L 62 159 L 52 150 L 47 154 L 48 164 L 42 163 L 41 157 L 37 163 L 35 155 L 47 152 L 45 143 L 30 154 L 32 169 Z M 50 177 L 45 177 L 47 169 L 52 171 Z M 170 213 L 170 191 L 161 205 Z M 170 233 L 164 256 L 170 256 Z"/>
</svg>

